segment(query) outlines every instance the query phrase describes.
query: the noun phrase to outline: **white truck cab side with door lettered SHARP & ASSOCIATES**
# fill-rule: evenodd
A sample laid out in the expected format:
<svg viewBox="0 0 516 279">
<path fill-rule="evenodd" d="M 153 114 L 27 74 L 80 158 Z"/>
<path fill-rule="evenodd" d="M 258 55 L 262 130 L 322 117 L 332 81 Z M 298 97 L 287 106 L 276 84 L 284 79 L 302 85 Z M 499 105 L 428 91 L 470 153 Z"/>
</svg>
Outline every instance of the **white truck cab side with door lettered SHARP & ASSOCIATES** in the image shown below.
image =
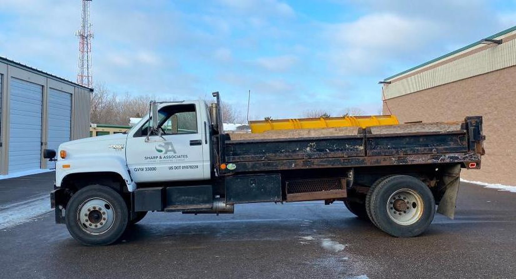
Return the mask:
<svg viewBox="0 0 516 279">
<path fill-rule="evenodd" d="M 159 108 L 161 135 L 148 136 L 149 121 L 128 135 L 127 167 L 136 183 L 209 179 L 204 170 L 209 153 L 203 152 L 209 147 L 203 141 L 199 104 L 181 102 Z"/>
</svg>

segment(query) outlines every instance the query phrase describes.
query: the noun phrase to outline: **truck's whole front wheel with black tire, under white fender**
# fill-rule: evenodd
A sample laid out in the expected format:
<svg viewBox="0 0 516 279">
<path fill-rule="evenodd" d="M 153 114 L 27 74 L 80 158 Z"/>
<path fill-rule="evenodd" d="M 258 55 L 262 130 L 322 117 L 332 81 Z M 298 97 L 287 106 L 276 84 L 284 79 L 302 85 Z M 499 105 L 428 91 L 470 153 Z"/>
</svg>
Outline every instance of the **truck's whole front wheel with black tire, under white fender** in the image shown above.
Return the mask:
<svg viewBox="0 0 516 279">
<path fill-rule="evenodd" d="M 104 201 L 105 204 L 102 205 Z M 91 202 L 93 204 L 88 205 Z M 85 210 L 86 207 L 95 206 L 97 203 L 105 208 L 98 206 L 100 211 L 97 212 L 95 210 Z M 81 210 L 86 214 L 95 213 L 92 215 L 93 220 L 90 219 L 90 216 L 85 217 L 86 214 L 84 216 L 80 214 L 79 216 Z M 105 214 L 106 212 L 108 214 Z M 99 215 L 101 219 L 98 219 Z M 104 216 L 107 220 L 104 219 Z M 107 216 L 111 216 L 111 218 Z M 117 241 L 125 231 L 128 218 L 127 205 L 122 196 L 114 189 L 102 185 L 90 185 L 78 190 L 68 202 L 65 216 L 66 226 L 70 234 L 86 246 L 104 246 Z M 88 222 L 88 220 L 90 221 Z M 102 223 L 102 220 L 106 220 L 105 223 Z M 86 224 L 90 227 L 103 224 L 106 227 L 94 229 L 89 228 Z M 103 230 L 103 232 L 92 232 L 92 230 Z"/>
</svg>

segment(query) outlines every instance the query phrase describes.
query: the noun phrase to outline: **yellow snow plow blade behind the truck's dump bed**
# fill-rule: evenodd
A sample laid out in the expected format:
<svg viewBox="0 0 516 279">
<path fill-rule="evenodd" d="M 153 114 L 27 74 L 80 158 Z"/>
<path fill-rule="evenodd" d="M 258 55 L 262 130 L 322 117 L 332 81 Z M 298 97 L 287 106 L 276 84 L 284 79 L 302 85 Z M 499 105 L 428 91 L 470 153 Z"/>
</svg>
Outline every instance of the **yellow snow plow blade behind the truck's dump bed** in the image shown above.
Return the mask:
<svg viewBox="0 0 516 279">
<path fill-rule="evenodd" d="M 394 115 L 364 115 L 342 117 L 319 117 L 298 119 L 275 119 L 249 121 L 251 133 L 263 133 L 269 130 L 316 129 L 330 127 L 371 127 L 396 125 L 398 118 Z"/>
</svg>

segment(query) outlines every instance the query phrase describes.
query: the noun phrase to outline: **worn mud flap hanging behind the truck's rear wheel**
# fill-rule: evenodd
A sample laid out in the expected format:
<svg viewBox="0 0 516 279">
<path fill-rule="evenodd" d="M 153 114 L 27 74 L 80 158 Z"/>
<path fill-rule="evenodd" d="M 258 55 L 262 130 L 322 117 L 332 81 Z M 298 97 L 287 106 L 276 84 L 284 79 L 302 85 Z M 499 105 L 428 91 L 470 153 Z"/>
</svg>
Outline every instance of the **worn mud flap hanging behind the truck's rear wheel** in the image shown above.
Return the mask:
<svg viewBox="0 0 516 279">
<path fill-rule="evenodd" d="M 443 184 L 445 192 L 437 208 L 437 213 L 450 219 L 454 219 L 457 194 L 459 193 L 460 184 L 460 165 L 450 166 L 445 170 L 443 175 Z"/>
</svg>

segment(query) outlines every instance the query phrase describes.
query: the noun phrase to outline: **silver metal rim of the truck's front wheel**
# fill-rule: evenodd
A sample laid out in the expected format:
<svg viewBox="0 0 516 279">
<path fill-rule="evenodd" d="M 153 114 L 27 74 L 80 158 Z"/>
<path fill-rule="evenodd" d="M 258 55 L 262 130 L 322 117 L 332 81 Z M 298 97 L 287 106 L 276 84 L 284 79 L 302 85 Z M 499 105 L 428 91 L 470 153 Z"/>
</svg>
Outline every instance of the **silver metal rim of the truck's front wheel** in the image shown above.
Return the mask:
<svg viewBox="0 0 516 279">
<path fill-rule="evenodd" d="M 88 199 L 77 210 L 79 227 L 88 234 L 104 234 L 111 229 L 114 221 L 113 206 L 102 198 Z"/>
</svg>

